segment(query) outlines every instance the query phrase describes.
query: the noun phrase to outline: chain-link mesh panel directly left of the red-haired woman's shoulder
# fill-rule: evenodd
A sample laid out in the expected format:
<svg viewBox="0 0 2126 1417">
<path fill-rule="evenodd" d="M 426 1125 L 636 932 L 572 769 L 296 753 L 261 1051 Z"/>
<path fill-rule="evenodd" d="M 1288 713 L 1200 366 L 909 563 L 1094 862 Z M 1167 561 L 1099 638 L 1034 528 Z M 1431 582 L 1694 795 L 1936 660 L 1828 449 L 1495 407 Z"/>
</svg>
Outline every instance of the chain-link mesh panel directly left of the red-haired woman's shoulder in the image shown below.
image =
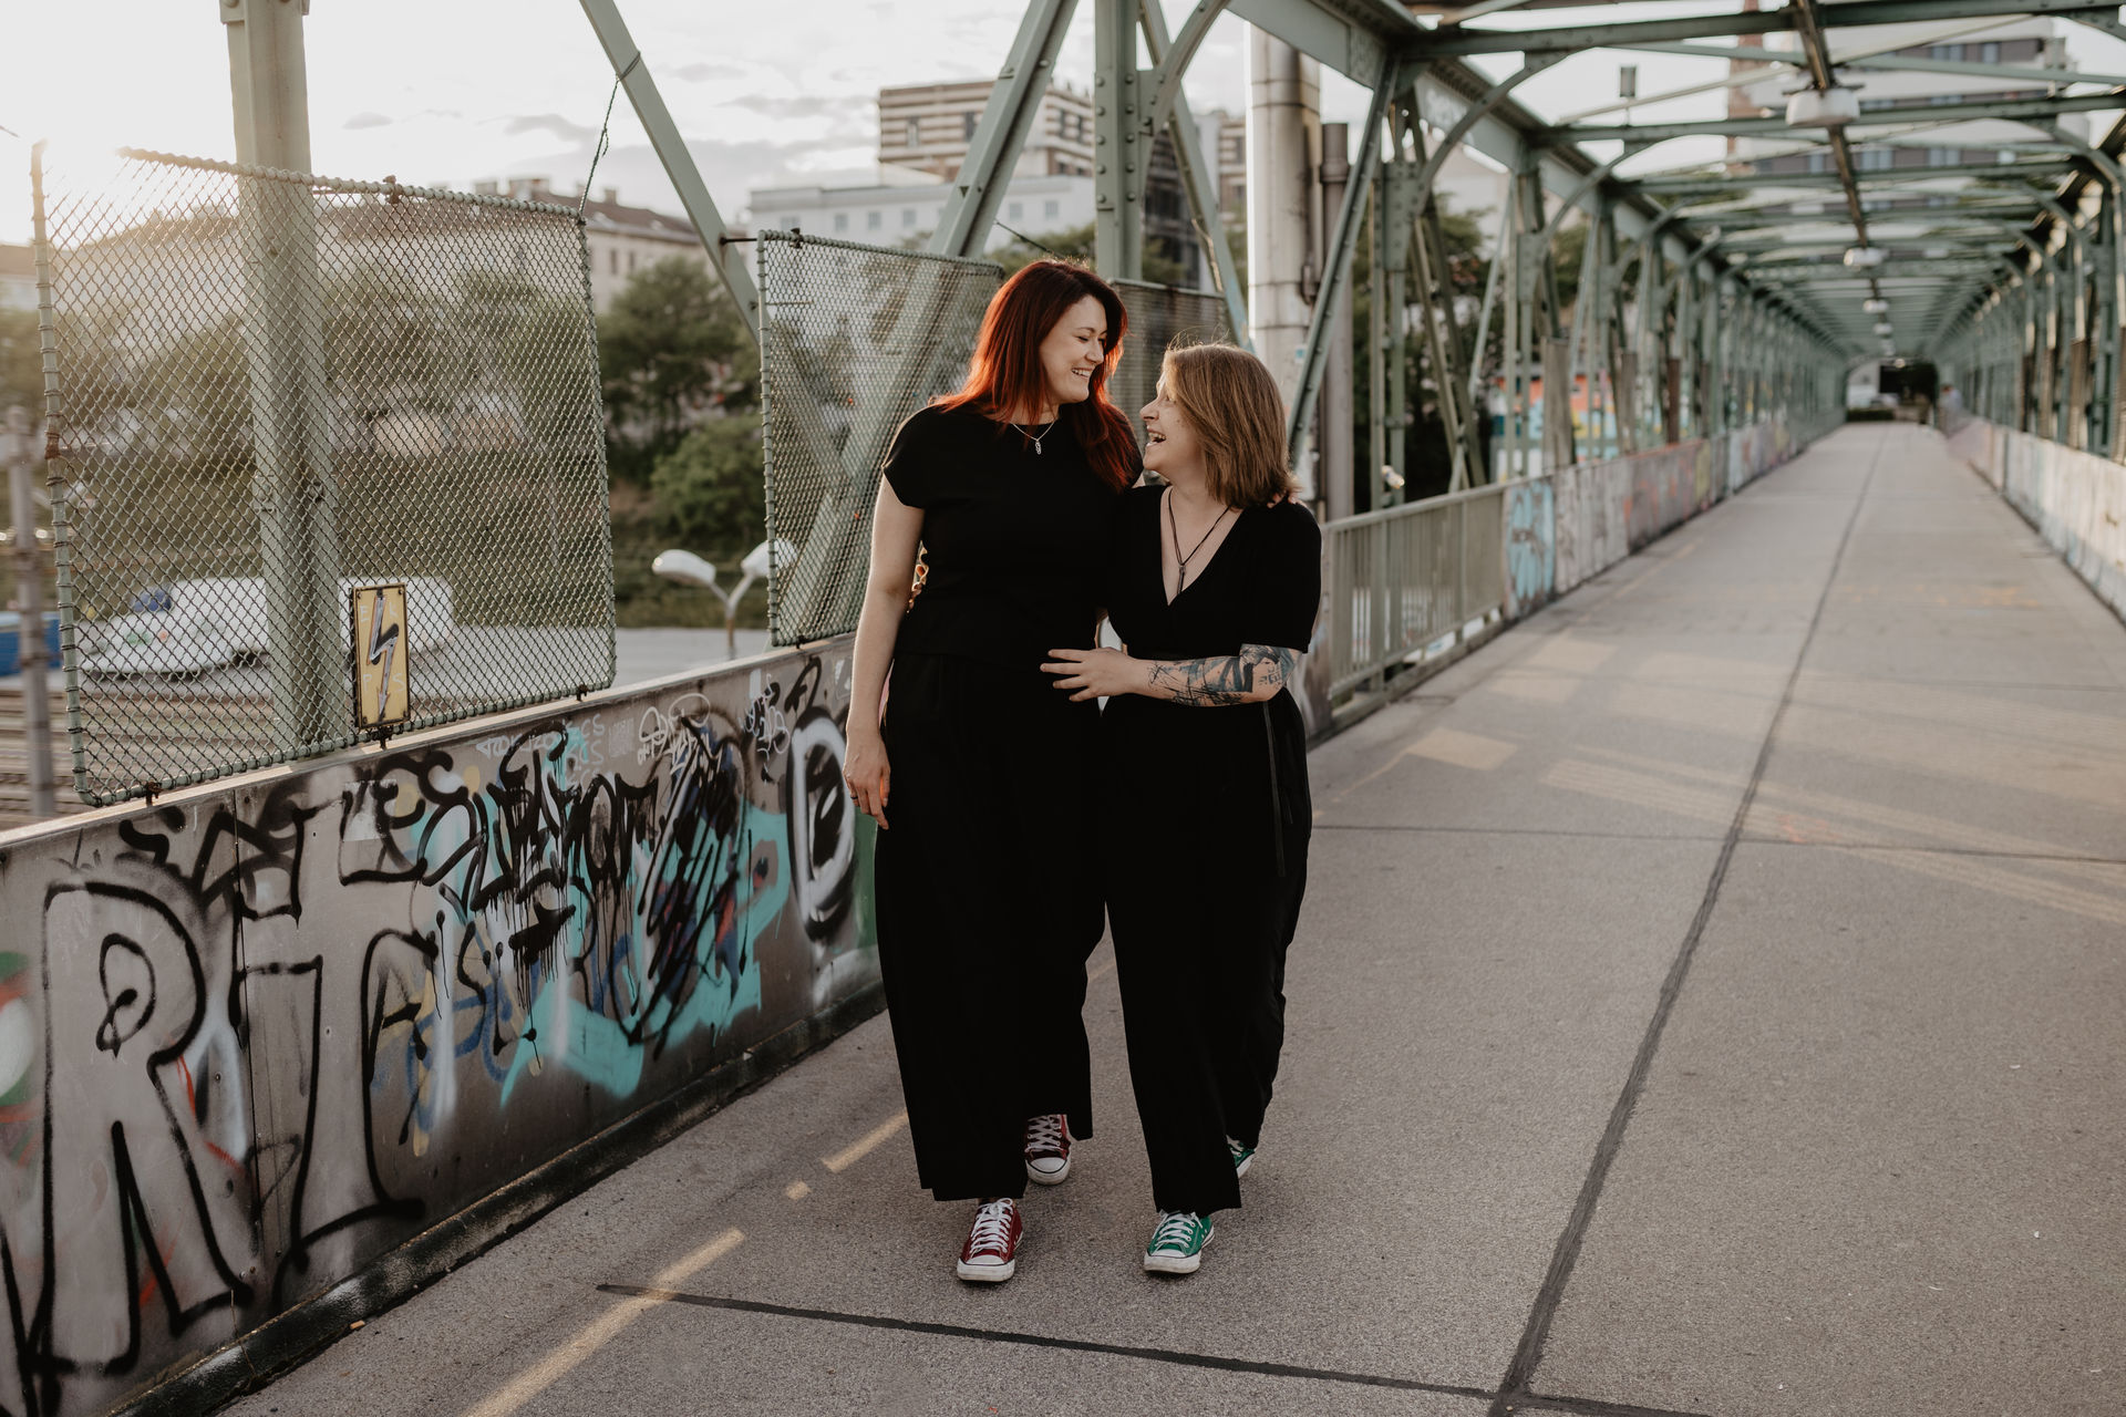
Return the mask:
<svg viewBox="0 0 2126 1417">
<path fill-rule="evenodd" d="M 893 431 L 959 389 L 993 261 L 761 232 L 767 629 L 774 644 L 857 627 L 872 497 Z"/>
</svg>

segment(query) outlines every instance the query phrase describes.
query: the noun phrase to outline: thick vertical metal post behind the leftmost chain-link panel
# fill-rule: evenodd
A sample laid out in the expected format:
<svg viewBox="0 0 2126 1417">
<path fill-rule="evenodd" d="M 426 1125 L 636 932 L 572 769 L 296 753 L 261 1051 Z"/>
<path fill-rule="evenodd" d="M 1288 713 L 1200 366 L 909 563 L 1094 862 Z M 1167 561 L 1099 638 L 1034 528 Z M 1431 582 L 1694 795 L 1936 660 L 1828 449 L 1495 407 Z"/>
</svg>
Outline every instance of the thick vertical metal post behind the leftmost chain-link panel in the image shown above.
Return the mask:
<svg viewBox="0 0 2126 1417">
<path fill-rule="evenodd" d="M 308 172 L 302 8 L 293 0 L 221 0 L 221 21 L 236 161 Z M 238 208 L 274 746 L 296 754 L 336 735 L 347 716 L 317 204 L 302 185 L 242 176 Z"/>
</svg>

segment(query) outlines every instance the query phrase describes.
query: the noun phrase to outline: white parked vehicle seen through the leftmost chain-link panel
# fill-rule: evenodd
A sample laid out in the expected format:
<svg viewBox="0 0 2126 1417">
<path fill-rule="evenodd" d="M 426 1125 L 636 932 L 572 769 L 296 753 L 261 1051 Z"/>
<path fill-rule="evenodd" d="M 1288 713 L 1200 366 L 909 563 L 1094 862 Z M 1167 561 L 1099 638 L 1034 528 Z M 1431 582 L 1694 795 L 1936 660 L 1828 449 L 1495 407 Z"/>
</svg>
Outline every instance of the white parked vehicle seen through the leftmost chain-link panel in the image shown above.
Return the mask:
<svg viewBox="0 0 2126 1417">
<path fill-rule="evenodd" d="M 340 648 L 347 650 L 347 593 L 391 578 L 340 578 Z M 406 648 L 412 654 L 442 648 L 457 633 L 451 582 L 408 576 Z M 162 676 L 187 680 L 238 661 L 266 659 L 272 633 L 266 614 L 266 580 L 221 576 L 172 580 L 134 595 L 125 614 L 77 620 L 74 644 L 83 673 Z"/>
</svg>

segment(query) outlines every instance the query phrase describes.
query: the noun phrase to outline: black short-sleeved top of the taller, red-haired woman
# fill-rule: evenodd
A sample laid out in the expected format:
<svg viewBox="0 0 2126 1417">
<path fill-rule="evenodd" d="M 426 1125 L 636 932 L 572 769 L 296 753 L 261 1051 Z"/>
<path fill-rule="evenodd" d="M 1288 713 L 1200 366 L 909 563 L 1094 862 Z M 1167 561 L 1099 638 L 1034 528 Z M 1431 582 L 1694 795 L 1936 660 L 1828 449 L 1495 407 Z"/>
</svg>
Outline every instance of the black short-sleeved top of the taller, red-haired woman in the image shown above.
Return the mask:
<svg viewBox="0 0 2126 1417">
<path fill-rule="evenodd" d="M 895 654 L 957 654 L 1037 671 L 1093 648 L 1118 493 L 1069 423 L 1033 440 L 972 408 L 923 408 L 887 455 L 887 482 L 923 510 L 929 574 Z"/>
</svg>

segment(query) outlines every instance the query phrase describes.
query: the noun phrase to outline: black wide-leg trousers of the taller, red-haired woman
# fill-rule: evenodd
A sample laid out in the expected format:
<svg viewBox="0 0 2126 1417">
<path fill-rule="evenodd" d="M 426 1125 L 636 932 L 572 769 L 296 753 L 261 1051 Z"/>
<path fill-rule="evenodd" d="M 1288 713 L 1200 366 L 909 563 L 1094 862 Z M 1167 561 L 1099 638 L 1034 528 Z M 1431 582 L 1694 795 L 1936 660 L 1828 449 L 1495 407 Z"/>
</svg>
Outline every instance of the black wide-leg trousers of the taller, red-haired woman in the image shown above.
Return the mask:
<svg viewBox="0 0 2126 1417">
<path fill-rule="evenodd" d="M 938 1200 L 1023 1196 L 1031 1115 L 1093 1134 L 1097 733 L 1097 707 L 1037 669 L 893 663 L 878 967 L 916 1173 Z"/>
</svg>

